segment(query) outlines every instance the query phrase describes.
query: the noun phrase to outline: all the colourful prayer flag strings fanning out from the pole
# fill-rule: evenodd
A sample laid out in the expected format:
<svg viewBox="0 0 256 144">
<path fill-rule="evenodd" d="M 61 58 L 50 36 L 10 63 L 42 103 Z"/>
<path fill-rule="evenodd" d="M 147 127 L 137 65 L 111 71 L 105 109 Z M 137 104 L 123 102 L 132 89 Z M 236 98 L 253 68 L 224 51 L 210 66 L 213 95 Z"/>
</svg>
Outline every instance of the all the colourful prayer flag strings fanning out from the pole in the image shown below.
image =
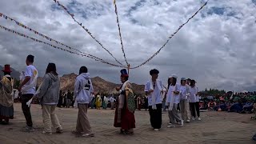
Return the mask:
<svg viewBox="0 0 256 144">
<path fill-rule="evenodd" d="M 70 11 L 68 11 L 67 8 L 66 8 L 65 6 L 63 6 L 61 3 L 59 3 L 57 0 L 54 0 L 54 2 L 55 2 L 55 3 L 58 3 L 58 6 L 62 6 L 62 8 L 66 11 L 66 13 L 69 14 L 70 17 L 74 19 L 74 22 L 77 22 L 78 25 L 81 26 L 83 30 L 86 30 L 87 34 L 89 34 L 90 37 L 93 38 L 95 42 L 97 42 L 100 46 L 102 46 L 102 48 L 103 48 L 104 50 L 106 50 L 106 51 L 112 56 L 112 58 L 114 58 L 114 55 L 111 54 L 110 51 L 107 50 L 107 49 L 102 45 L 101 42 L 98 42 L 98 40 L 97 40 L 96 38 L 94 38 L 94 36 L 90 33 L 90 31 L 89 31 L 88 29 L 86 29 L 85 26 L 82 26 L 82 23 L 78 22 L 78 21 L 74 18 L 74 14 L 71 14 Z M 185 23 L 183 23 L 181 26 L 179 26 L 178 29 L 177 29 L 173 34 L 171 34 L 170 37 L 166 40 L 166 42 L 160 47 L 160 49 L 159 49 L 157 52 L 155 52 L 150 58 L 148 58 L 145 62 L 142 62 L 142 64 L 140 64 L 140 65 L 138 65 L 138 66 L 130 67 L 130 65 L 128 64 L 127 59 L 126 59 L 125 51 L 124 51 L 124 49 L 123 49 L 121 28 L 120 28 L 120 24 L 119 24 L 119 20 L 118 20 L 118 9 L 117 9 L 117 5 L 116 5 L 116 0 L 114 0 L 114 8 L 115 8 L 115 14 L 116 14 L 116 16 L 117 16 L 118 32 L 119 32 L 119 37 L 120 37 L 121 46 L 122 46 L 122 53 L 124 54 L 124 58 L 125 58 L 126 64 L 127 64 L 127 66 L 129 67 L 129 69 L 136 69 L 136 68 L 138 68 L 138 67 L 141 67 L 141 66 L 145 65 L 147 62 L 150 62 L 151 59 L 153 59 L 157 54 L 160 53 L 160 51 L 162 50 L 162 48 L 166 47 L 166 44 L 170 41 L 170 39 L 173 38 L 174 35 L 177 34 L 178 31 L 181 30 L 183 26 L 185 26 L 188 22 L 190 22 L 190 20 L 191 20 L 192 18 L 194 18 L 194 16 L 197 15 L 198 12 L 199 12 L 200 10 L 202 10 L 202 8 L 203 8 L 204 6 L 207 5 L 207 2 L 209 2 L 209 0 L 207 0 L 207 1 L 194 13 Z M 18 34 L 19 36 L 22 36 L 22 37 L 24 37 L 24 38 L 29 38 L 29 39 L 31 39 L 31 40 L 33 40 L 33 41 L 35 41 L 35 42 L 44 43 L 44 44 L 46 44 L 46 45 L 48 45 L 48 46 L 51 46 L 51 47 L 54 47 L 55 49 L 58 49 L 58 50 L 64 50 L 64 51 L 66 51 L 66 52 L 69 52 L 70 54 L 77 54 L 77 55 L 80 55 L 80 56 L 82 56 L 82 57 L 92 58 L 92 59 L 94 59 L 95 61 L 99 61 L 99 62 L 102 62 L 102 63 L 106 63 L 106 64 L 108 64 L 108 65 L 110 65 L 110 66 L 118 66 L 118 65 L 116 65 L 116 64 L 112 64 L 112 63 L 110 63 L 110 62 L 106 62 L 105 60 L 103 60 L 103 59 L 101 59 L 101 58 L 97 58 L 97 57 L 95 57 L 94 55 L 86 54 L 86 53 L 83 53 L 83 52 L 80 51 L 80 50 L 74 49 L 74 48 L 72 48 L 72 47 L 70 47 L 70 46 L 66 46 L 66 45 L 63 44 L 62 42 L 58 42 L 58 41 L 56 41 L 56 40 L 54 40 L 54 39 L 52 39 L 52 38 L 49 38 L 49 37 L 47 37 L 46 35 L 41 34 L 41 33 L 38 33 L 38 31 L 33 30 L 33 29 L 31 29 L 30 27 L 25 26 L 25 25 L 23 25 L 23 24 L 20 23 L 20 22 L 17 22 L 17 21 L 14 20 L 13 18 L 7 17 L 5 14 L 0 13 L 0 17 L 3 17 L 3 18 L 5 18 L 5 19 L 7 19 L 7 20 L 10 19 L 11 21 L 16 22 L 16 24 L 17 24 L 18 26 L 22 26 L 23 28 L 25 28 L 25 29 L 27 29 L 27 30 L 33 31 L 34 34 L 38 34 L 39 36 L 41 36 L 41 37 L 43 37 L 43 38 L 46 38 L 48 41 L 56 42 L 56 43 L 58 43 L 58 44 L 60 44 L 60 45 L 62 45 L 62 46 L 65 46 L 66 48 L 69 48 L 70 50 L 66 50 L 66 49 L 63 49 L 63 48 L 61 48 L 61 47 L 54 46 L 54 45 L 52 45 L 52 44 L 50 44 L 50 43 L 47 43 L 47 42 L 42 42 L 41 40 L 38 40 L 38 39 L 36 39 L 36 38 L 31 38 L 31 37 L 29 37 L 29 36 L 27 36 L 27 35 L 25 35 L 25 34 L 18 33 L 17 31 L 14 31 L 14 30 L 10 30 L 10 29 L 6 28 L 5 26 L 0 26 L 0 28 L 2 28 L 3 30 L 9 31 L 9 32 L 11 32 L 11 33 L 13 33 L 13 34 Z M 80 54 L 78 54 L 77 52 L 71 51 L 71 49 L 78 51 Z M 114 58 L 114 59 L 115 59 L 116 62 L 118 62 L 118 64 L 121 65 L 121 66 L 118 66 L 118 67 L 126 67 L 126 66 L 122 65 L 122 63 L 119 62 L 116 58 Z"/>
</svg>

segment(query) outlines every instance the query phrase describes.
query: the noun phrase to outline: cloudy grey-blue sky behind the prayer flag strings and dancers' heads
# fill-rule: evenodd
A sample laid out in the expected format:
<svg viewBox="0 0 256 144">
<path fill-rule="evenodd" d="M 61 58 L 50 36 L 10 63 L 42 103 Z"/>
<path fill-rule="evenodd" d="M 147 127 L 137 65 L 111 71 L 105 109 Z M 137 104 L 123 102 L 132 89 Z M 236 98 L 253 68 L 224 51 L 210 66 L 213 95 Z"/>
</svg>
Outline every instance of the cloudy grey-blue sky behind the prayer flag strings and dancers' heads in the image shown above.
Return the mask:
<svg viewBox="0 0 256 144">
<path fill-rule="evenodd" d="M 118 37 L 112 0 L 60 0 L 98 38 L 114 57 L 126 64 Z M 117 0 L 126 57 L 137 66 L 156 52 L 178 26 L 186 22 L 206 0 Z M 0 13 L 108 62 L 115 62 L 52 0 L 1 0 Z M 38 37 L 14 22 L 0 18 L 0 25 Z M 208 5 L 170 40 L 145 66 L 130 71 L 130 80 L 144 84 L 150 69 L 160 71 L 166 83 L 170 74 L 194 78 L 200 90 L 256 90 L 256 0 L 210 0 Z M 43 75 L 48 62 L 59 74 L 78 73 L 87 66 L 92 77 L 119 82 L 120 68 L 90 58 L 54 50 L 50 46 L 0 30 L 0 65 L 24 70 L 26 55 L 34 54 L 34 65 Z"/>
</svg>

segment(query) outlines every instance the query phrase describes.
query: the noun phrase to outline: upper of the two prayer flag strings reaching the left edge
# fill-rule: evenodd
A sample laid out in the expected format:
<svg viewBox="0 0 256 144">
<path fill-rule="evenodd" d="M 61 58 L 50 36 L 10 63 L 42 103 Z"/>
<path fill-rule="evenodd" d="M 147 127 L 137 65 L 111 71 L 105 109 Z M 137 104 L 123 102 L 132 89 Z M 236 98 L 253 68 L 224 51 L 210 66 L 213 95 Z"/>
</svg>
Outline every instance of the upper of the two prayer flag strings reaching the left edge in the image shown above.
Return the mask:
<svg viewBox="0 0 256 144">
<path fill-rule="evenodd" d="M 10 18 L 10 17 L 6 16 L 6 14 L 0 13 L 0 17 L 5 18 L 6 20 L 14 21 L 18 26 L 21 26 L 22 28 L 24 28 L 24 29 L 26 29 L 26 30 L 33 31 L 34 34 L 38 34 L 39 36 L 41 36 L 42 38 L 46 38 L 46 40 L 48 40 L 48 41 L 50 41 L 50 42 L 56 42 L 56 43 L 58 43 L 58 44 L 60 44 L 60 45 L 62 45 L 62 46 L 65 46 L 66 48 L 69 48 L 70 50 L 76 50 L 76 51 L 78 51 L 78 52 L 81 53 L 81 54 L 86 54 L 86 55 L 89 55 L 90 57 L 97 58 L 97 57 L 95 57 L 95 56 L 92 55 L 92 54 L 87 54 L 87 53 L 82 52 L 81 50 L 72 48 L 72 47 L 70 47 L 70 46 L 66 46 L 66 45 L 63 44 L 62 42 L 58 42 L 58 41 L 54 40 L 53 38 L 50 38 L 50 37 L 46 36 L 45 34 L 41 34 L 41 33 L 39 33 L 38 31 L 33 30 L 33 29 L 30 28 L 29 26 L 25 26 L 25 25 L 23 25 L 21 22 L 16 21 L 14 18 Z M 101 62 L 103 62 L 103 61 L 106 62 L 106 61 L 103 60 L 102 58 L 97 58 L 97 59 L 100 60 Z"/>
</svg>

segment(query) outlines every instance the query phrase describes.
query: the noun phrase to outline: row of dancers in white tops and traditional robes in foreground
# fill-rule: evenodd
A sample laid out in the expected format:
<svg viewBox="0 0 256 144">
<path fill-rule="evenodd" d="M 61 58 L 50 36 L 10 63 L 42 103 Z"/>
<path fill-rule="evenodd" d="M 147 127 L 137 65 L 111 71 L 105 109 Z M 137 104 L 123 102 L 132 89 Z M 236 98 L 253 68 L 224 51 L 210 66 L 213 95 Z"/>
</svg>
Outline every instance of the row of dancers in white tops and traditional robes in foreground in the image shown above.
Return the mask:
<svg viewBox="0 0 256 144">
<path fill-rule="evenodd" d="M 33 98 L 38 98 L 42 102 L 42 134 L 52 134 L 53 132 L 62 134 L 62 126 L 55 113 L 58 106 L 60 96 L 60 78 L 54 63 L 49 63 L 46 67 L 46 74 L 42 78 L 42 83 L 37 86 L 38 70 L 33 65 L 34 56 L 26 57 L 26 70 L 22 77 L 22 82 L 18 86 L 18 90 L 14 90 L 14 80 L 10 77 L 10 65 L 4 67 L 4 76 L 0 82 L 0 122 L 9 124 L 9 119 L 14 118 L 14 95 L 21 94 L 22 112 L 26 118 L 26 126 L 22 129 L 24 132 L 34 132 L 34 125 L 30 112 L 30 103 Z M 126 69 L 120 71 L 121 86 L 116 87 L 118 98 L 113 97 L 94 98 L 94 87 L 90 79 L 90 73 L 86 66 L 82 66 L 79 70 L 79 75 L 74 83 L 74 106 L 78 108 L 77 124 L 72 134 L 81 137 L 94 137 L 93 130 L 90 126 L 88 118 L 88 109 L 90 103 L 96 103 L 97 109 L 105 102 L 103 108 L 106 108 L 108 100 L 111 102 L 111 110 L 114 110 L 114 127 L 120 129 L 120 134 L 134 134 L 136 108 L 140 110 L 142 99 L 137 98 L 135 102 L 134 92 L 129 74 Z M 167 78 L 167 85 L 158 79 L 159 71 L 156 69 L 150 70 L 150 79 L 145 84 L 145 93 L 147 102 L 143 98 L 143 103 L 146 103 L 150 114 L 150 124 L 153 130 L 158 131 L 162 128 L 162 110 L 168 110 L 169 124 L 168 128 L 182 127 L 184 122 L 191 120 L 201 121 L 199 112 L 199 95 L 196 82 L 189 78 L 181 78 L 178 82 L 178 76 L 172 74 Z M 68 92 L 68 95 L 70 91 Z M 70 98 L 68 98 L 70 99 Z M 70 100 L 68 100 L 70 106 Z M 180 111 L 180 114 L 178 112 Z M 191 119 L 192 118 L 192 119 Z M 52 127 L 54 129 L 52 129 Z"/>
</svg>

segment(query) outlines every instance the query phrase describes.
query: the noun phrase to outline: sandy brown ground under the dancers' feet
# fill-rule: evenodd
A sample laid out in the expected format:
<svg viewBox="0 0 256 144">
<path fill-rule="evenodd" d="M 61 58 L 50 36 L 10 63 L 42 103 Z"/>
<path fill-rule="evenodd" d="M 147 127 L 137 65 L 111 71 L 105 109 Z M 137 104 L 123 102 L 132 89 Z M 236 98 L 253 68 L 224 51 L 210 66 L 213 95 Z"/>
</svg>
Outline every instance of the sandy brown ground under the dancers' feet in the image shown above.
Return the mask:
<svg viewBox="0 0 256 144">
<path fill-rule="evenodd" d="M 255 143 L 251 140 L 256 121 L 250 120 L 252 114 L 235 114 L 227 112 L 202 112 L 202 122 L 185 123 L 184 127 L 166 128 L 167 113 L 162 114 L 162 129 L 155 132 L 150 127 L 148 111 L 136 111 L 134 135 L 120 135 L 114 128 L 114 110 L 89 110 L 90 124 L 94 138 L 75 138 L 74 130 L 77 109 L 57 108 L 56 113 L 62 123 L 64 133 L 42 134 L 42 110 L 39 105 L 32 105 L 32 118 L 35 132 L 22 132 L 26 121 L 22 114 L 21 104 L 14 104 L 14 119 L 9 126 L 0 126 L 0 144 L 9 143 Z M 255 130 L 256 132 L 256 130 Z"/>
</svg>

